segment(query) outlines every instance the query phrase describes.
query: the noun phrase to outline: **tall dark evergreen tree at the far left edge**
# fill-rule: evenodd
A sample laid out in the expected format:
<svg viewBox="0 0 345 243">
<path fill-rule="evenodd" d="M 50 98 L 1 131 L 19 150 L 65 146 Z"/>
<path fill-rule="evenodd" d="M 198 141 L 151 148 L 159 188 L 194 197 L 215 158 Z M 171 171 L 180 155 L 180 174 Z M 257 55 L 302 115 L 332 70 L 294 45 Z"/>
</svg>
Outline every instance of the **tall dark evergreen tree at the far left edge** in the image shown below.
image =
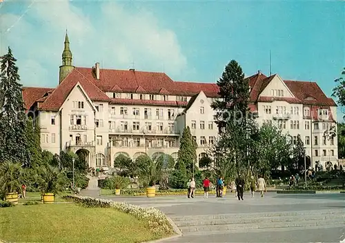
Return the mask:
<svg viewBox="0 0 345 243">
<path fill-rule="evenodd" d="M 1 57 L 0 73 L 0 159 L 30 164 L 26 142 L 26 113 L 21 93 L 17 59 L 8 48 Z"/>
</svg>

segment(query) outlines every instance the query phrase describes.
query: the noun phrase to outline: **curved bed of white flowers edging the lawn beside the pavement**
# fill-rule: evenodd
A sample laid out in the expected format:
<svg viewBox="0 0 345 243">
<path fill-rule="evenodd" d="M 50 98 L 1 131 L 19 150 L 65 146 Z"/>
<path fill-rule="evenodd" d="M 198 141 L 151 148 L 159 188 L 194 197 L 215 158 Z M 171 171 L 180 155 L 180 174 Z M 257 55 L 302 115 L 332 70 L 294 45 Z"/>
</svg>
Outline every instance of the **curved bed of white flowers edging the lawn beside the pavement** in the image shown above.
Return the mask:
<svg viewBox="0 0 345 243">
<path fill-rule="evenodd" d="M 112 200 L 104 200 L 93 197 L 81 197 L 77 195 L 66 195 L 63 199 L 81 204 L 86 207 L 101 207 L 101 208 L 115 208 L 118 211 L 128 213 L 137 217 L 139 220 L 147 222 L 148 226 L 153 233 L 172 234 L 172 226 L 168 222 L 166 215 L 159 211 L 157 208 L 142 208 L 132 204 L 126 204 L 124 202 L 113 202 Z"/>
</svg>

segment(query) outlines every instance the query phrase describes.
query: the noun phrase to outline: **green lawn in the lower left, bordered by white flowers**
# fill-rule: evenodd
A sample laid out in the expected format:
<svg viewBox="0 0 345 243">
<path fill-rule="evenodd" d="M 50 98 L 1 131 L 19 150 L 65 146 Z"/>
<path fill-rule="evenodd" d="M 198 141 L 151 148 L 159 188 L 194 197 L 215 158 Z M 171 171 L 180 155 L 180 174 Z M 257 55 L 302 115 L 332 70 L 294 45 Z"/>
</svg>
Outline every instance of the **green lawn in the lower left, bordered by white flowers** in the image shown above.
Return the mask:
<svg viewBox="0 0 345 243">
<path fill-rule="evenodd" d="M 0 208 L 0 239 L 6 242 L 145 242 L 146 222 L 113 208 L 38 204 Z"/>
</svg>

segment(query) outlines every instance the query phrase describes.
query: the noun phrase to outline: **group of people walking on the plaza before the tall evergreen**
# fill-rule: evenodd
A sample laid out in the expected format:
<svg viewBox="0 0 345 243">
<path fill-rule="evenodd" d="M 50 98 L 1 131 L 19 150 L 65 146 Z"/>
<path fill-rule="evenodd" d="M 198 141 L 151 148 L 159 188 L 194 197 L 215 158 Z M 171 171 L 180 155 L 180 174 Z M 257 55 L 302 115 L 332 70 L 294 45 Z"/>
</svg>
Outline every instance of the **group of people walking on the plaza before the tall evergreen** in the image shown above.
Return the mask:
<svg viewBox="0 0 345 243">
<path fill-rule="evenodd" d="M 210 179 L 206 177 L 203 181 L 204 186 L 204 198 L 208 198 L 208 192 L 210 191 L 210 187 L 212 186 L 212 183 L 210 182 Z M 244 200 L 244 186 L 245 181 L 244 178 L 239 174 L 239 176 L 235 179 L 235 182 L 231 183 L 231 190 L 235 192 L 235 197 L 238 198 L 238 200 Z M 217 178 L 216 182 L 216 197 L 223 197 L 223 191 L 224 191 L 224 180 L 222 177 Z M 194 198 L 195 197 L 195 179 L 189 179 L 187 182 L 187 188 L 188 188 L 188 198 Z M 258 190 L 260 192 L 260 195 L 264 197 L 264 192 L 266 191 L 266 182 L 262 175 L 259 176 L 259 179 L 257 181 L 255 180 L 254 176 L 252 175 L 250 177 L 250 194 L 252 197 L 254 197 L 255 191 Z M 237 192 L 237 195 L 236 195 Z"/>
</svg>

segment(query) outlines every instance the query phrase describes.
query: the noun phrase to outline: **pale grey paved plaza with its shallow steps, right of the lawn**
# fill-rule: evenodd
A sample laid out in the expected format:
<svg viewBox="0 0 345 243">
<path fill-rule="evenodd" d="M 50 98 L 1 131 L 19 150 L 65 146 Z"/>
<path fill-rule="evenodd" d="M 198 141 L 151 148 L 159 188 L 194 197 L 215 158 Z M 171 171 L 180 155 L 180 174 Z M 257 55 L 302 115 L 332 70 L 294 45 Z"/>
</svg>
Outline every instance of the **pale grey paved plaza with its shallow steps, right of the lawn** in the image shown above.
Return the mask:
<svg viewBox="0 0 345 243">
<path fill-rule="evenodd" d="M 94 184 L 93 184 L 94 185 Z M 97 187 L 97 186 L 96 186 Z M 91 185 L 83 195 L 153 206 L 177 224 L 182 236 L 166 242 L 341 242 L 345 238 L 345 194 L 277 194 L 244 201 L 228 194 L 204 199 L 184 196 L 99 196 Z M 98 195 L 97 195 L 98 194 Z M 344 241 L 345 242 L 345 241 Z"/>
</svg>

